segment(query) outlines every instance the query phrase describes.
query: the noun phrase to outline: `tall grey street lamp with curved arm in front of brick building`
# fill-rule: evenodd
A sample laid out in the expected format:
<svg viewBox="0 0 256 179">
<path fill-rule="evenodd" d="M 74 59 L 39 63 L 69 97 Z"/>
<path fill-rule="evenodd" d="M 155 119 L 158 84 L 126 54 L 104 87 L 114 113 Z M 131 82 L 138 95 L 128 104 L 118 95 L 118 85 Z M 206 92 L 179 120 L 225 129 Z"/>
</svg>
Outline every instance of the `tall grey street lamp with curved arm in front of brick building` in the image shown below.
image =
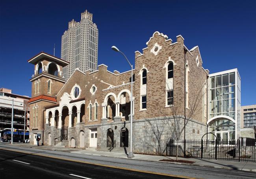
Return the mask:
<svg viewBox="0 0 256 179">
<path fill-rule="evenodd" d="M 116 51 L 116 52 L 120 52 L 122 55 L 124 55 L 124 53 L 122 53 L 116 46 L 112 46 L 111 47 L 112 50 Z M 126 61 L 129 63 L 129 65 L 131 66 L 131 68 L 133 68 L 132 64 L 128 61 L 127 57 L 124 55 Z M 133 76 L 133 73 L 132 73 Z M 132 82 L 133 82 L 133 77 L 131 79 L 131 129 L 130 129 L 130 152 L 128 153 L 128 158 L 134 158 L 134 153 L 132 152 L 132 114 L 133 114 L 133 98 L 132 98 Z"/>
</svg>

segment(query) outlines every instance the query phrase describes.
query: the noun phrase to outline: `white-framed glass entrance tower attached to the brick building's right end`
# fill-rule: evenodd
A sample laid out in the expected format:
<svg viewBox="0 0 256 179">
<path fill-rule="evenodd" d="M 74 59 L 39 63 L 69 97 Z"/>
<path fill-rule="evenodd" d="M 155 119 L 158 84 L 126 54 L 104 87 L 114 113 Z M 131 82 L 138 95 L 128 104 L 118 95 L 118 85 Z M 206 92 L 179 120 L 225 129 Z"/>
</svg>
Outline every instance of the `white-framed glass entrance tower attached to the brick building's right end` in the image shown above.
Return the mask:
<svg viewBox="0 0 256 179">
<path fill-rule="evenodd" d="M 210 74 L 208 94 L 209 132 L 218 141 L 230 144 L 240 133 L 241 78 L 237 68 Z M 214 135 L 209 135 L 209 139 L 215 140 Z"/>
</svg>

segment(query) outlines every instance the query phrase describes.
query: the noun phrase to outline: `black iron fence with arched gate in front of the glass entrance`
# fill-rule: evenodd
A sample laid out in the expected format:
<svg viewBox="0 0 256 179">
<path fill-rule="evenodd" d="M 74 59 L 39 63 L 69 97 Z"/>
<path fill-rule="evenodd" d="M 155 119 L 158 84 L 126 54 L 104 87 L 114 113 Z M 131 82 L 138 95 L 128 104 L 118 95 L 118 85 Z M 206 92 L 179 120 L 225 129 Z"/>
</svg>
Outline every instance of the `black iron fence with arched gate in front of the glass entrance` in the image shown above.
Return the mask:
<svg viewBox="0 0 256 179">
<path fill-rule="evenodd" d="M 256 140 L 170 140 L 166 155 L 201 159 L 256 162 Z"/>
</svg>

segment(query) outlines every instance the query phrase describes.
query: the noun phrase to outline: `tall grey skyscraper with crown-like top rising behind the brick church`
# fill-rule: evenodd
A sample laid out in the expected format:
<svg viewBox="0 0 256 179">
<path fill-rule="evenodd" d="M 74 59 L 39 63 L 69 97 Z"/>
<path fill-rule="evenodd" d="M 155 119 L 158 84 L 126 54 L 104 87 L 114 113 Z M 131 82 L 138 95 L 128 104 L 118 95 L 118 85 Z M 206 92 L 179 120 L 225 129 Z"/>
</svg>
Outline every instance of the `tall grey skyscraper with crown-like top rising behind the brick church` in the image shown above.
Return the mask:
<svg viewBox="0 0 256 179">
<path fill-rule="evenodd" d="M 63 68 L 66 81 L 76 68 L 83 72 L 97 69 L 98 29 L 92 20 L 93 14 L 85 10 L 80 22 L 72 19 L 61 37 L 61 59 L 70 63 Z"/>
</svg>

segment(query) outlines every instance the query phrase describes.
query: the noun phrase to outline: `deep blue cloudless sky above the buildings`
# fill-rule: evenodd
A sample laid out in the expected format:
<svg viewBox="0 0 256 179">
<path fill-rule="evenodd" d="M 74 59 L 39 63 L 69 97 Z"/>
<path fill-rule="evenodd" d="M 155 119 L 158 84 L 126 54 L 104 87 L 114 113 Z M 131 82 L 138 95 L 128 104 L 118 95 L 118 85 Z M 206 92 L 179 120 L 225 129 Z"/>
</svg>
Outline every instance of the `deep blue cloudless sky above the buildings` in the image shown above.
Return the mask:
<svg viewBox="0 0 256 179">
<path fill-rule="evenodd" d="M 154 31 L 187 48 L 198 45 L 210 73 L 238 68 L 242 105 L 256 104 L 256 1 L 29 1 L 0 0 L 0 87 L 31 96 L 33 65 L 27 60 L 45 51 L 60 57 L 61 35 L 73 18 L 88 9 L 98 26 L 98 65 L 129 70 L 115 45 L 134 64 Z"/>
</svg>

